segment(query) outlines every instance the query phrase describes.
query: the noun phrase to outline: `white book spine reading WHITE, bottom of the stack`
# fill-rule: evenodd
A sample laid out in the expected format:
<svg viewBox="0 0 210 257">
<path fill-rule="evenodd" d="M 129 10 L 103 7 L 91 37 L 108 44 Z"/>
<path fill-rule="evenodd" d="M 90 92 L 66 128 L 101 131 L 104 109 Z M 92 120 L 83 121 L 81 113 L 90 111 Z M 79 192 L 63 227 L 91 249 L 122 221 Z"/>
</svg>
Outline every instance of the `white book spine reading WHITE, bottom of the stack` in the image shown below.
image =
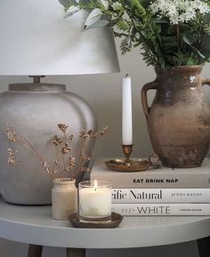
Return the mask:
<svg viewBox="0 0 210 257">
<path fill-rule="evenodd" d="M 210 204 L 112 204 L 112 212 L 123 216 L 210 215 Z"/>
</svg>

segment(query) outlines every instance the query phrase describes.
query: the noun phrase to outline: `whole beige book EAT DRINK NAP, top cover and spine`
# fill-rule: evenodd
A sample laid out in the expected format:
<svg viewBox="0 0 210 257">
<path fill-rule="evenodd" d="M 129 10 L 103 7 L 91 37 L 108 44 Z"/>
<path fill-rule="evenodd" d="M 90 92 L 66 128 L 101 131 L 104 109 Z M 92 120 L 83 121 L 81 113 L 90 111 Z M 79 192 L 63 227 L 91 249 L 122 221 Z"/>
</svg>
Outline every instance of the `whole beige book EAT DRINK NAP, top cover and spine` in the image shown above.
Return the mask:
<svg viewBox="0 0 210 257">
<path fill-rule="evenodd" d="M 206 158 L 202 166 L 190 169 L 149 168 L 138 173 L 119 173 L 110 171 L 105 161 L 98 159 L 90 174 L 91 180 L 110 181 L 113 188 L 139 189 L 209 189 L 210 159 Z"/>
</svg>

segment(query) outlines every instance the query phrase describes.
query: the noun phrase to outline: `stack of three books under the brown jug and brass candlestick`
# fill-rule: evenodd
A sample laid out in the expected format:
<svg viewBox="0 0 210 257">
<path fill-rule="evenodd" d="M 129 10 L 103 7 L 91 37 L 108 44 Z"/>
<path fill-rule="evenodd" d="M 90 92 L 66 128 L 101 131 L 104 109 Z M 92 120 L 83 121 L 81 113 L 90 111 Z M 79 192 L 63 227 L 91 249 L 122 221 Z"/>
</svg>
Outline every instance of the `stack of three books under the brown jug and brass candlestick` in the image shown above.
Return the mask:
<svg viewBox="0 0 210 257">
<path fill-rule="evenodd" d="M 112 211 L 124 216 L 210 215 L 210 159 L 191 169 L 149 169 L 140 173 L 110 171 L 98 159 L 91 180 L 112 184 Z"/>
</svg>

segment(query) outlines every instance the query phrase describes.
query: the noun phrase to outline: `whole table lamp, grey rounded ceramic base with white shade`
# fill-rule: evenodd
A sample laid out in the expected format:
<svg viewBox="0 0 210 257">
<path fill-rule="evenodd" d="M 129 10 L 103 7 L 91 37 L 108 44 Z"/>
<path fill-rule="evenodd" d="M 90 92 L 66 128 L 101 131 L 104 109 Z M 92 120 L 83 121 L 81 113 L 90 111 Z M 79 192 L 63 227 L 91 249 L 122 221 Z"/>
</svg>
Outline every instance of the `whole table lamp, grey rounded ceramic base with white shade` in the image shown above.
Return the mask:
<svg viewBox="0 0 210 257">
<path fill-rule="evenodd" d="M 119 70 L 111 30 L 82 31 L 86 15 L 77 12 L 64 19 L 57 0 L 0 1 L 0 76 L 34 76 L 34 83 L 10 84 L 9 92 L 0 94 L 0 194 L 9 203 L 51 204 L 52 180 L 42 173 L 44 164 L 24 149 L 18 149 L 21 163 L 33 170 L 7 164 L 6 149 L 11 147 L 4 134 L 7 123 L 30 141 L 47 163 L 54 161 L 49 141 L 58 133 L 57 124 L 69 124 L 74 135 L 82 129 L 97 129 L 93 109 L 85 100 L 66 92 L 63 84 L 40 83 L 41 76 Z M 89 155 L 90 144 L 84 148 Z M 72 155 L 78 157 L 78 136 L 72 149 Z"/>
</svg>

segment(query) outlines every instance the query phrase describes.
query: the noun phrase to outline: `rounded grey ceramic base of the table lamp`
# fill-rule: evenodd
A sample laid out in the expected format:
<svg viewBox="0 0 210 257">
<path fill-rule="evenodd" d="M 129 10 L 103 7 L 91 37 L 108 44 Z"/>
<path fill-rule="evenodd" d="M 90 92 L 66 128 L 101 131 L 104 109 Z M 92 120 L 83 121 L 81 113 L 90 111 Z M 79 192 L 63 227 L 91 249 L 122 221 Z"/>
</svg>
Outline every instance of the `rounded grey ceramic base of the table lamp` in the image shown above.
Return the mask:
<svg viewBox="0 0 210 257">
<path fill-rule="evenodd" d="M 96 117 L 88 103 L 75 93 L 66 92 L 63 84 L 10 84 L 0 94 L 0 192 L 4 200 L 17 205 L 51 204 L 52 179 L 22 165 L 7 164 L 6 149 L 11 148 L 5 130 L 10 124 L 44 157 L 54 156 L 51 140 L 59 123 L 69 124 L 74 156 L 81 150 L 78 137 L 82 129 L 97 129 Z M 90 150 L 90 145 L 85 146 Z M 35 167 L 37 160 L 18 149 L 23 163 Z"/>
</svg>

